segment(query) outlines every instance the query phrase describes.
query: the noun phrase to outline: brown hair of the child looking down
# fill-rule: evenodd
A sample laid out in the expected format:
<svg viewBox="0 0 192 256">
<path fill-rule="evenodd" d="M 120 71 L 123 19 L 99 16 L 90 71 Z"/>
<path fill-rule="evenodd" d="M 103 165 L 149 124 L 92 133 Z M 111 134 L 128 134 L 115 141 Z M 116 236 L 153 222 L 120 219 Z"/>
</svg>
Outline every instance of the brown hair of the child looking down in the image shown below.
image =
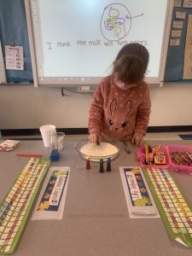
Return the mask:
<svg viewBox="0 0 192 256">
<path fill-rule="evenodd" d="M 148 49 L 142 44 L 126 44 L 113 62 L 113 74 L 125 84 L 136 84 L 143 80 L 148 67 Z"/>
</svg>

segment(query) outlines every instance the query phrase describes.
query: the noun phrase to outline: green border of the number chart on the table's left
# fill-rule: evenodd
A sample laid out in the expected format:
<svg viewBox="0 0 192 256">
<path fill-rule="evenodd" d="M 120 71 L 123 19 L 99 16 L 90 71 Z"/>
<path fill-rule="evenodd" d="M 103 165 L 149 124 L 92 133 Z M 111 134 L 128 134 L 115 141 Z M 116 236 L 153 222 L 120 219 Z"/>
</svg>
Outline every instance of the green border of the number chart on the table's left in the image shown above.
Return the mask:
<svg viewBox="0 0 192 256">
<path fill-rule="evenodd" d="M 30 159 L 29 159 L 29 160 L 30 160 Z M 28 164 L 29 160 L 27 161 L 26 165 Z M 46 165 L 46 166 L 44 166 L 44 172 L 42 172 L 41 177 L 40 177 L 39 180 L 38 180 L 38 184 L 36 185 L 36 189 L 35 189 L 35 191 L 33 192 L 32 198 L 30 199 L 29 204 L 28 204 L 28 206 L 27 206 L 27 208 L 26 208 L 26 212 L 25 212 L 24 218 L 23 218 L 22 221 L 21 221 L 20 227 L 19 227 L 19 229 L 16 231 L 16 234 L 15 234 L 15 237 L 14 237 L 14 241 L 12 242 L 12 244 L 11 244 L 11 246 L 10 246 L 10 248 L 9 248 L 9 252 L 3 252 L 3 251 L 1 251 L 1 247 L 0 247 L 0 254 L 9 254 L 9 253 L 13 253 L 13 252 L 14 252 L 15 247 L 16 247 L 16 245 L 17 245 L 17 242 L 19 241 L 20 236 L 21 236 L 21 234 L 22 234 L 22 231 L 23 231 L 23 229 L 24 229 L 24 227 L 25 227 L 26 220 L 27 220 L 27 218 L 28 218 L 28 216 L 29 216 L 29 213 L 31 212 L 31 208 L 32 208 L 33 201 L 35 200 L 35 197 L 36 197 L 36 195 L 37 195 L 37 193 L 38 193 L 38 189 L 39 189 L 39 187 L 40 187 L 40 185 L 41 185 L 41 183 L 42 183 L 42 181 L 43 181 L 43 179 L 44 179 L 44 176 L 45 176 L 46 172 L 47 172 L 48 169 L 49 169 L 50 163 L 51 163 L 50 160 L 47 160 L 47 159 L 44 159 L 44 158 L 38 158 L 38 165 L 39 165 L 39 164 L 41 164 L 41 165 L 43 165 L 43 164 Z M 20 172 L 19 176 L 15 179 L 15 183 L 16 183 L 16 181 L 18 180 L 18 178 L 20 177 L 21 173 L 24 171 L 25 167 L 26 167 L 26 166 L 24 166 L 24 168 L 23 168 L 23 170 Z M 5 195 L 5 197 L 3 198 L 3 201 L 2 201 L 1 204 L 0 204 L 0 207 L 2 207 L 3 202 L 6 200 L 7 196 L 9 195 L 9 193 L 10 193 L 10 191 L 12 190 L 13 186 L 15 185 L 15 183 L 13 183 L 11 189 L 9 189 L 9 192 L 8 192 L 7 195 Z M 13 212 L 12 212 L 12 214 L 13 214 Z"/>
</svg>

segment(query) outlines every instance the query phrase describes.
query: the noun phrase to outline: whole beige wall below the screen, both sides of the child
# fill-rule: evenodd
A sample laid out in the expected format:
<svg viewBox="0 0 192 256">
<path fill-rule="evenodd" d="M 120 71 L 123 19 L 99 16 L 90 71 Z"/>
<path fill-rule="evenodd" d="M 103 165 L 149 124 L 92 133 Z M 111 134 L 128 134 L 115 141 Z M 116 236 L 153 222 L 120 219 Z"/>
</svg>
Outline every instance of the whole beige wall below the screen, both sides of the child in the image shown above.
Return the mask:
<svg viewBox="0 0 192 256">
<path fill-rule="evenodd" d="M 67 96 L 61 96 L 61 88 L 0 85 L 0 129 L 87 127 L 91 95 L 64 92 Z M 150 126 L 192 125 L 192 83 L 150 87 L 150 94 Z"/>
</svg>

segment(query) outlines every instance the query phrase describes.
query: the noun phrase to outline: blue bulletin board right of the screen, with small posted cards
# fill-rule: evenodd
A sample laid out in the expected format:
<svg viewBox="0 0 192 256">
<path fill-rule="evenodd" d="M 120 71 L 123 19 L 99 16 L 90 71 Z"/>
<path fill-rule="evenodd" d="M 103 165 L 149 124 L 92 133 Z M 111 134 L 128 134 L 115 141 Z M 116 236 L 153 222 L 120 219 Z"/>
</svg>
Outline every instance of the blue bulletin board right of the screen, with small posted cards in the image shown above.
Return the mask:
<svg viewBox="0 0 192 256">
<path fill-rule="evenodd" d="M 166 71 L 164 77 L 165 82 L 192 81 L 192 76 L 191 79 L 183 79 L 185 44 L 190 15 L 192 15 L 191 0 L 174 1 L 170 42 L 166 57 Z"/>
</svg>

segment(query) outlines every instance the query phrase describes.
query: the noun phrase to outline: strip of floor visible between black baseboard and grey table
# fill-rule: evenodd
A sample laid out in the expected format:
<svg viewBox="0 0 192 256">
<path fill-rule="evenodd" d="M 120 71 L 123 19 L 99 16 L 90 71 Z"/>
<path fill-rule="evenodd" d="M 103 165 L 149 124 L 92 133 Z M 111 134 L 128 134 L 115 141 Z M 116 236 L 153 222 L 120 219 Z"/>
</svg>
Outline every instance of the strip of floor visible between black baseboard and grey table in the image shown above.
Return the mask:
<svg viewBox="0 0 192 256">
<path fill-rule="evenodd" d="M 180 137 L 181 136 L 181 137 Z M 68 141 L 76 141 L 88 138 L 87 134 L 75 134 L 66 135 L 65 139 Z M 18 140 L 39 140 L 41 136 L 13 136 L 13 137 L 3 137 L 3 139 L 18 139 Z M 145 140 L 180 140 L 192 139 L 192 132 L 150 132 L 145 137 Z"/>
</svg>

